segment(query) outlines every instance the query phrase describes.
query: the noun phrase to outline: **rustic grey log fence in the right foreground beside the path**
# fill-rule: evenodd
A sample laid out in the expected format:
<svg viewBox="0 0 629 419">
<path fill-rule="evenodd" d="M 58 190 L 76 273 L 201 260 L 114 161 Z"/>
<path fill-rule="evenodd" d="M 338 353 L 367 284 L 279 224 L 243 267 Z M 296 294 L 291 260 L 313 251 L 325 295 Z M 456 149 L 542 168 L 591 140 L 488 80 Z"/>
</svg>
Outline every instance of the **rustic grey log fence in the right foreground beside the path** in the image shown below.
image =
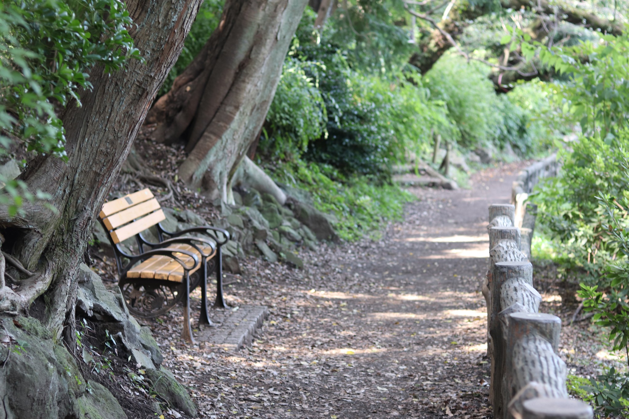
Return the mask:
<svg viewBox="0 0 629 419">
<path fill-rule="evenodd" d="M 592 419 L 586 403 L 568 398 L 565 362 L 557 354 L 561 320 L 539 313 L 533 266 L 521 249 L 516 207 L 489 207 L 487 302 L 489 400 L 494 418 Z"/>
</svg>

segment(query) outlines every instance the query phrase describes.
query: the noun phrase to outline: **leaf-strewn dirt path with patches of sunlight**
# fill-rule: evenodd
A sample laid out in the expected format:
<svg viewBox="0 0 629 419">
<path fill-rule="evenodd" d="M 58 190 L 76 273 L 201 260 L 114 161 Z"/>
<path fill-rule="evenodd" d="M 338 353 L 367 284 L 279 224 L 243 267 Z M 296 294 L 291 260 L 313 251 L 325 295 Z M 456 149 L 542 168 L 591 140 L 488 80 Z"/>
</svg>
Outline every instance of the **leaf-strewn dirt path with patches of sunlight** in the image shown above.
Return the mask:
<svg viewBox="0 0 629 419">
<path fill-rule="evenodd" d="M 471 190 L 413 190 L 386 238 L 323 247 L 303 270 L 248 261 L 227 293 L 271 307 L 259 340 L 186 346 L 175 310 L 152 325 L 164 364 L 202 418 L 491 417 L 487 206 L 507 202 L 522 166 L 477 173 Z"/>
</svg>

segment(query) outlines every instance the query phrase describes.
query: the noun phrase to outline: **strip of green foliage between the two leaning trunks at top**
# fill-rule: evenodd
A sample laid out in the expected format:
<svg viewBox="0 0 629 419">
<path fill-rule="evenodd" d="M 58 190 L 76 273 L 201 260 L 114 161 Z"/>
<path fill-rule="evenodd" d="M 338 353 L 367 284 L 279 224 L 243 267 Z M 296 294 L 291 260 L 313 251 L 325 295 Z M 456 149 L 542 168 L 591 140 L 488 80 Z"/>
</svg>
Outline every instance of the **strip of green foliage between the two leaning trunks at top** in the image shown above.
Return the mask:
<svg viewBox="0 0 629 419">
<path fill-rule="evenodd" d="M 198 55 L 209 40 L 214 29 L 218 26 L 221 14 L 223 13 L 223 4 L 225 4 L 225 0 L 203 1 L 203 4 L 201 4 L 199 8 L 199 13 L 196 15 L 194 23 L 192 23 L 190 31 L 186 36 L 181 55 L 179 55 L 177 62 L 170 69 L 170 72 L 164 80 L 164 84 L 162 84 L 157 94 L 158 96 L 168 93 L 177 76 L 186 70 L 186 67 L 194 60 L 194 57 Z"/>
</svg>

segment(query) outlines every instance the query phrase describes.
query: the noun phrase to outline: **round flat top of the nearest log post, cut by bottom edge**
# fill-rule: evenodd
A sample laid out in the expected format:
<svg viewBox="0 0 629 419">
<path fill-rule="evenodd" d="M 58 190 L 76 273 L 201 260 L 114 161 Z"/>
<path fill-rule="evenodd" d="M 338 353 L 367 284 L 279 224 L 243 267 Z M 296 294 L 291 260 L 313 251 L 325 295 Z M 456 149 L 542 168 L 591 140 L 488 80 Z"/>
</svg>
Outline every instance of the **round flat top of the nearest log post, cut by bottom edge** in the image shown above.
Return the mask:
<svg viewBox="0 0 629 419">
<path fill-rule="evenodd" d="M 522 419 L 593 419 L 591 406 L 579 400 L 534 398 L 522 403 Z"/>
</svg>

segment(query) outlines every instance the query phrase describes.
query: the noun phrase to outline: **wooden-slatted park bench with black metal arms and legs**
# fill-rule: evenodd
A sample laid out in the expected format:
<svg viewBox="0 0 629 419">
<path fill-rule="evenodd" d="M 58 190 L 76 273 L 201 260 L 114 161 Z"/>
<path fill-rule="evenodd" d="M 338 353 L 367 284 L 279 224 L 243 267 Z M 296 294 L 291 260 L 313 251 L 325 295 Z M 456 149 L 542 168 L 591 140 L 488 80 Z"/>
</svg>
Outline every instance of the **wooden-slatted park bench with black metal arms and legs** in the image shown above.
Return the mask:
<svg viewBox="0 0 629 419">
<path fill-rule="evenodd" d="M 148 189 L 106 202 L 99 214 L 114 249 L 118 285 L 129 312 L 141 318 L 157 317 L 183 301 L 181 335 L 192 342 L 190 293 L 198 285 L 202 300 L 199 324 L 212 325 L 208 315 L 209 274 L 216 273 L 214 307 L 227 307 L 223 298 L 221 246 L 230 234 L 211 226 L 169 232 L 161 224 L 165 219 L 159 202 Z M 155 227 L 157 242 L 147 239 L 151 227 Z M 134 236 L 138 254 L 127 253 L 121 246 Z"/>
</svg>

